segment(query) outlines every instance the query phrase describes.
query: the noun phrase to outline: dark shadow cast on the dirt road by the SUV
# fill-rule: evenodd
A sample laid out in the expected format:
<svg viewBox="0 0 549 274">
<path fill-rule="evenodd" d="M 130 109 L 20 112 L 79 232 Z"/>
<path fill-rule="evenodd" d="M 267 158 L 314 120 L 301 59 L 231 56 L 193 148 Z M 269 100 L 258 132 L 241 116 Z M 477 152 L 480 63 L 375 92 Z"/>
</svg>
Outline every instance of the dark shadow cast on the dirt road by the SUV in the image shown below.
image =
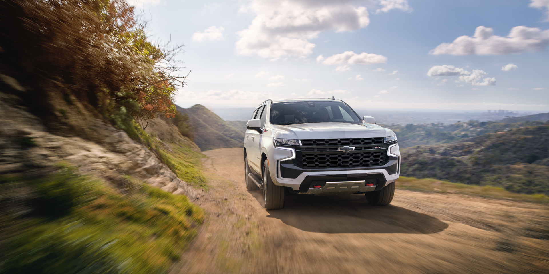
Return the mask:
<svg viewBox="0 0 549 274">
<path fill-rule="evenodd" d="M 262 204 L 263 193 L 250 191 Z M 371 206 L 363 194 L 340 196 L 286 196 L 284 208 L 267 210 L 296 229 L 321 233 L 430 234 L 449 225 L 427 214 L 397 206 Z"/>
</svg>

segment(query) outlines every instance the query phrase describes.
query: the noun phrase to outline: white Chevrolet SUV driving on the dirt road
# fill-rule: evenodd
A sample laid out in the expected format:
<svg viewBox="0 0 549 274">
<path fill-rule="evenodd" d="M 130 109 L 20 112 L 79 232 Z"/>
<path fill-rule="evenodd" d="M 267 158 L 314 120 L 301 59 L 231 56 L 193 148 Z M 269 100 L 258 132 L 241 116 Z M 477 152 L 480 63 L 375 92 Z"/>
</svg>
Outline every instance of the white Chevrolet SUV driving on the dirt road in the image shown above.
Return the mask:
<svg viewBox="0 0 549 274">
<path fill-rule="evenodd" d="M 246 187 L 263 189 L 266 209 L 285 195 L 364 193 L 370 204 L 393 199 L 400 151 L 393 130 L 362 119 L 344 101 L 262 102 L 244 137 Z"/>
</svg>

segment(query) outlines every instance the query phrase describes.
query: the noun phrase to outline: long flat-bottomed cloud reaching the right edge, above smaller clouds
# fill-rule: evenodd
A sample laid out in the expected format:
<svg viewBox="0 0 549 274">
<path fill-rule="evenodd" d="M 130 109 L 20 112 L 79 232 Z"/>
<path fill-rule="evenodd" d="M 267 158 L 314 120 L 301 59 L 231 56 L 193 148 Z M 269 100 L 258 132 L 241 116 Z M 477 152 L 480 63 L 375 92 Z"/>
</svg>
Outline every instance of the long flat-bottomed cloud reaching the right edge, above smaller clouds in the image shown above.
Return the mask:
<svg viewBox="0 0 549 274">
<path fill-rule="evenodd" d="M 442 43 L 430 54 L 451 55 L 502 55 L 523 52 L 539 52 L 549 44 L 549 30 L 537 27 L 511 28 L 507 37 L 496 36 L 491 27 L 479 26 L 474 36 L 460 36 L 452 43 Z"/>
</svg>

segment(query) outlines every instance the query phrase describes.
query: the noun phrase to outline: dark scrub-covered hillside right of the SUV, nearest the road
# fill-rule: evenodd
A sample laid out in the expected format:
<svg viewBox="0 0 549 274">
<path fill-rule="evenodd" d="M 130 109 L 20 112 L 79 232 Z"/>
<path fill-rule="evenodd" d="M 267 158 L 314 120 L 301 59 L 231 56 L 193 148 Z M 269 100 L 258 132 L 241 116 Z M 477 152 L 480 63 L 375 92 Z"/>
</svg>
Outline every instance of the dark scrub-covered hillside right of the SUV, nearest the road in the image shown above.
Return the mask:
<svg viewBox="0 0 549 274">
<path fill-rule="evenodd" d="M 549 193 L 549 127 L 515 128 L 402 150 L 402 175 Z"/>
</svg>

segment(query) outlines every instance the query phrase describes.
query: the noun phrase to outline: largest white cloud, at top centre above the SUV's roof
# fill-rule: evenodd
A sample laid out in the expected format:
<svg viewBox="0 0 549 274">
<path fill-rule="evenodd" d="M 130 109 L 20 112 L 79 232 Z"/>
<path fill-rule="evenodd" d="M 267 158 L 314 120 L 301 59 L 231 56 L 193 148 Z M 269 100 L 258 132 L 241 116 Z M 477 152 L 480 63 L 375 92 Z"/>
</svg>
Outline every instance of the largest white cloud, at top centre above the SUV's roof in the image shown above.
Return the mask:
<svg viewBox="0 0 549 274">
<path fill-rule="evenodd" d="M 253 0 L 248 10 L 256 17 L 239 31 L 236 48 L 240 54 L 264 58 L 306 56 L 315 44 L 309 39 L 322 31 L 354 31 L 370 20 L 365 7 L 352 0 Z"/>
</svg>

